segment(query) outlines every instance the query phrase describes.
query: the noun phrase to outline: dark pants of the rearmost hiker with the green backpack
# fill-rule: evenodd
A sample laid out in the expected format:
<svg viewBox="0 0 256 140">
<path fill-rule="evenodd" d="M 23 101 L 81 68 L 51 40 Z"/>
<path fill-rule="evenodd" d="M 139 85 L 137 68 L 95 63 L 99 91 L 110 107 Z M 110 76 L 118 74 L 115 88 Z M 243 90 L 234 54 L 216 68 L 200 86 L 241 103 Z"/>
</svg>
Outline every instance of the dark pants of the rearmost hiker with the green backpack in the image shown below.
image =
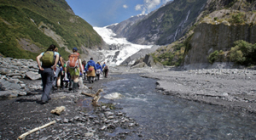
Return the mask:
<svg viewBox="0 0 256 140">
<path fill-rule="evenodd" d="M 44 102 L 49 100 L 49 92 L 52 88 L 54 76 L 54 71 L 51 68 L 44 68 L 44 70 L 41 71 L 41 77 L 43 82 L 43 94 L 41 100 Z"/>
</svg>

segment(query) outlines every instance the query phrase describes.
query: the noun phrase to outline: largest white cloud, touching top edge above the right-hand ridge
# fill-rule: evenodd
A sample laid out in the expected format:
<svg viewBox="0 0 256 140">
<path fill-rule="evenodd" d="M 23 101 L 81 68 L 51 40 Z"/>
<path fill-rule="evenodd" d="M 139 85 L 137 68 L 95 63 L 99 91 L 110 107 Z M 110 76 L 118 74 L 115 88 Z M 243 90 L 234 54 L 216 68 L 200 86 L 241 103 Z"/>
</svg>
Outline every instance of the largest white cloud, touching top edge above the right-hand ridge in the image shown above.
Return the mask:
<svg viewBox="0 0 256 140">
<path fill-rule="evenodd" d="M 164 0 L 166 1 L 166 0 Z M 157 5 L 161 3 L 161 0 L 144 0 L 143 4 L 137 4 L 135 9 L 141 10 L 143 14 L 146 12 L 150 12 L 152 9 L 154 9 Z"/>
</svg>

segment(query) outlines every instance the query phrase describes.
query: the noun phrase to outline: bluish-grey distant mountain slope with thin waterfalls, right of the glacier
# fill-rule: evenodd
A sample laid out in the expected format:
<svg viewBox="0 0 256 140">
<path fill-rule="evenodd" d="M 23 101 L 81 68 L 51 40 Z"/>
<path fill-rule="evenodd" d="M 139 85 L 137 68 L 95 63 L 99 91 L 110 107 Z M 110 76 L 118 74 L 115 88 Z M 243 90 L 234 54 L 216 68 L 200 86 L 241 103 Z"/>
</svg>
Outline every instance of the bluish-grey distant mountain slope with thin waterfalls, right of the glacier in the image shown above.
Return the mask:
<svg viewBox="0 0 256 140">
<path fill-rule="evenodd" d="M 174 0 L 143 19 L 112 26 L 117 36 L 138 44 L 166 45 L 177 41 L 195 23 L 207 0 Z M 124 25 L 126 23 L 126 25 Z M 125 26 L 125 28 L 124 28 Z"/>
</svg>

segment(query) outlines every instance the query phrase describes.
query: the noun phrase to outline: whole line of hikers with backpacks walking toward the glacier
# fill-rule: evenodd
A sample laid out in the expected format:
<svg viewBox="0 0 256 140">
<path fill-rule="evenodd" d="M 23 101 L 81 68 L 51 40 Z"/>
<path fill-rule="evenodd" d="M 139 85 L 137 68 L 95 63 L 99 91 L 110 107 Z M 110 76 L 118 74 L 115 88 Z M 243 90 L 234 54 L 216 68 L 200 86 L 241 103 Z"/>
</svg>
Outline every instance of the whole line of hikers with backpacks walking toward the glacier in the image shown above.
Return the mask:
<svg viewBox="0 0 256 140">
<path fill-rule="evenodd" d="M 93 58 L 86 63 L 81 61 L 78 48 L 73 48 L 73 53 L 68 56 L 68 60 L 64 61 L 58 48 L 50 45 L 49 48 L 37 57 L 39 67 L 38 73 L 41 74 L 43 82 L 43 94 L 41 104 L 46 104 L 51 99 L 49 93 L 52 88 L 57 87 L 58 90 L 68 86 L 68 89 L 77 92 L 79 88 L 79 77 L 84 77 L 89 83 L 100 80 L 100 75 L 108 78 L 108 65 L 104 62 L 95 63 Z M 66 84 L 66 85 L 65 85 Z"/>
</svg>

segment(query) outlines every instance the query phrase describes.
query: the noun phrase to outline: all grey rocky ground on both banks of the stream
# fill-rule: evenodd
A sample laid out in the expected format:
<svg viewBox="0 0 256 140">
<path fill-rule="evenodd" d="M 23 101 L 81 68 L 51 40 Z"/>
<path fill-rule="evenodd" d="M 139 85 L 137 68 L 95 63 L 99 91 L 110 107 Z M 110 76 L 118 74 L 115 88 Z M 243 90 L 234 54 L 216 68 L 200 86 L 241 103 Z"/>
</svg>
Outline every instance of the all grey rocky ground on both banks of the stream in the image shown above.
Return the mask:
<svg viewBox="0 0 256 140">
<path fill-rule="evenodd" d="M 157 79 L 157 89 L 164 96 L 172 95 L 206 104 L 237 109 L 245 114 L 256 113 L 256 71 L 238 69 L 161 70 L 151 68 L 115 67 L 110 76 L 92 84 L 84 81 L 79 92 L 67 89 L 54 91 L 48 104 L 38 104 L 41 81 L 32 60 L 2 59 L 0 65 L 0 139 L 17 139 L 22 133 L 52 120 L 54 125 L 26 136 L 26 139 L 125 139 L 138 132 L 136 120 L 122 112 L 117 104 L 91 104 L 91 97 L 81 92 L 96 93 L 103 83 L 114 81 L 114 74 L 141 73 Z M 101 93 L 104 96 L 104 92 Z M 100 99 L 101 101 L 101 99 Z M 65 106 L 61 115 L 50 111 Z M 118 131 L 121 128 L 124 131 Z"/>
</svg>

